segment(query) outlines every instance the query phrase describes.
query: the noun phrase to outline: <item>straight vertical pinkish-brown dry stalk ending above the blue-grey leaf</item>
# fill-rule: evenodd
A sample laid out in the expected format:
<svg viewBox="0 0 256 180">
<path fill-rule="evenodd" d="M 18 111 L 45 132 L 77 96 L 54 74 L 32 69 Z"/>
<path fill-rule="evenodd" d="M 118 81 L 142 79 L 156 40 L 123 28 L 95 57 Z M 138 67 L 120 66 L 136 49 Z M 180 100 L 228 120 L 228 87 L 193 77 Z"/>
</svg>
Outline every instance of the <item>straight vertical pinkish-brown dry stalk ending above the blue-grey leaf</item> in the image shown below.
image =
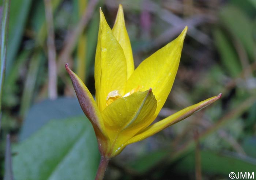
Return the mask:
<svg viewBox="0 0 256 180">
<path fill-rule="evenodd" d="M 57 98 L 57 65 L 56 65 L 56 48 L 54 45 L 54 26 L 52 3 L 50 0 L 44 0 L 45 17 L 47 26 L 47 49 L 48 49 L 48 96 L 49 99 Z"/>
</svg>

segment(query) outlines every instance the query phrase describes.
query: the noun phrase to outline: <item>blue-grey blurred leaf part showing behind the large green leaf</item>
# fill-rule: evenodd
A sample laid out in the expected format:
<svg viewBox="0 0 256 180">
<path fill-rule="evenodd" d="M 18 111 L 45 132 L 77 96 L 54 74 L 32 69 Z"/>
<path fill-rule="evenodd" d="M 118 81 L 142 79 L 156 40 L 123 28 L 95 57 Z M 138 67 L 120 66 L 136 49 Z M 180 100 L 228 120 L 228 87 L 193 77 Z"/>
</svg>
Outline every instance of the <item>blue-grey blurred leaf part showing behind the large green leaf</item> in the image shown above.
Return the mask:
<svg viewBox="0 0 256 180">
<path fill-rule="evenodd" d="M 52 119 L 62 120 L 78 115 L 83 115 L 83 111 L 76 98 L 60 97 L 34 104 L 23 122 L 19 139 L 27 139 Z"/>
</svg>

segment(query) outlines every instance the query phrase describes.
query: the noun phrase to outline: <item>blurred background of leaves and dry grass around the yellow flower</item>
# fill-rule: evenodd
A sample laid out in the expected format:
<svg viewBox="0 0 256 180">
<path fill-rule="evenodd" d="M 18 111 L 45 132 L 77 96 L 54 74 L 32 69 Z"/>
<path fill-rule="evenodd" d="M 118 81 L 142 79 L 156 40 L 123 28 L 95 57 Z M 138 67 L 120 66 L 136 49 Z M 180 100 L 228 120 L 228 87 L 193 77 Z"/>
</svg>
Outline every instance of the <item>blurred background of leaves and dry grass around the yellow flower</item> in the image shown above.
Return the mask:
<svg viewBox="0 0 256 180">
<path fill-rule="evenodd" d="M 94 179 L 97 142 L 65 63 L 94 94 L 99 7 L 113 27 L 119 3 L 135 67 L 188 26 L 176 80 L 155 121 L 218 93 L 222 98 L 127 146 L 105 179 L 256 176 L 255 0 L 11 0 L 0 179 Z"/>
</svg>

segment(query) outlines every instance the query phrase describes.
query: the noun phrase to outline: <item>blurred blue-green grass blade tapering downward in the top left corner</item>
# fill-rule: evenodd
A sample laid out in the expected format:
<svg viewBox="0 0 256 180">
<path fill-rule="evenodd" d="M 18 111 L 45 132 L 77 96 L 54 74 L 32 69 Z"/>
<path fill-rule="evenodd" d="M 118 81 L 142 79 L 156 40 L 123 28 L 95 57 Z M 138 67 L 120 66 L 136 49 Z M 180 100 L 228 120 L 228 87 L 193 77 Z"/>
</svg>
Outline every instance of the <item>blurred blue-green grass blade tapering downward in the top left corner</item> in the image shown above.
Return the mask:
<svg viewBox="0 0 256 180">
<path fill-rule="evenodd" d="M 12 0 L 10 5 L 9 40 L 6 62 L 6 76 L 9 75 L 16 53 L 20 47 L 31 0 Z"/>
</svg>

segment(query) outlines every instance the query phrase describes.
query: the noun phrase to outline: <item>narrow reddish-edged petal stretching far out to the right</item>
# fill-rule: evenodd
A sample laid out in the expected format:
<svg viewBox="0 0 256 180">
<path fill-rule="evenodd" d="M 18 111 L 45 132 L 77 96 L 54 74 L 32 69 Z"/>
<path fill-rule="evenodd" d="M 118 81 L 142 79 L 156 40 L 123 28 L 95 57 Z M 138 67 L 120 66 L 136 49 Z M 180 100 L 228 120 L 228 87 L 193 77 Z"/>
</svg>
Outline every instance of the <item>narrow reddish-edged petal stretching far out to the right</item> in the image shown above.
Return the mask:
<svg viewBox="0 0 256 180">
<path fill-rule="evenodd" d="M 218 96 L 211 97 L 211 98 L 206 99 L 200 103 L 189 106 L 181 111 L 176 112 L 173 115 L 170 115 L 169 117 L 167 117 L 157 123 L 154 123 L 151 126 L 148 126 L 146 129 L 139 132 L 137 135 L 135 135 L 129 141 L 127 141 L 125 146 L 128 144 L 146 139 L 146 138 L 150 137 L 151 135 L 154 135 L 154 134 L 158 133 L 159 131 L 165 129 L 166 127 L 169 127 L 177 122 L 180 122 L 181 120 L 187 118 L 188 116 L 191 116 L 192 114 L 195 114 L 196 112 L 200 111 L 201 109 L 205 108 L 206 106 L 210 105 L 211 103 L 214 103 L 219 98 L 221 98 L 221 95 L 222 94 L 219 94 Z"/>
</svg>

